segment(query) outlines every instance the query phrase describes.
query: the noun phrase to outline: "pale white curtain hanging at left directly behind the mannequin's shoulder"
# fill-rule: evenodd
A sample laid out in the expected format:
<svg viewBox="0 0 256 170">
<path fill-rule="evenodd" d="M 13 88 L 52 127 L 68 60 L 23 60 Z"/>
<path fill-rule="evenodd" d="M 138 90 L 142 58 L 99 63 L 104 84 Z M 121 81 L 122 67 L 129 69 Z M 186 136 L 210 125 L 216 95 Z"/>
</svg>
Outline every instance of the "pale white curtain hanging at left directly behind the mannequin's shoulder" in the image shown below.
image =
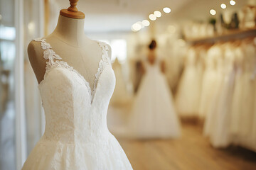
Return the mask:
<svg viewBox="0 0 256 170">
<path fill-rule="evenodd" d="M 27 47 L 33 38 L 43 37 L 43 0 L 23 0 L 24 98 L 26 115 L 26 157 L 40 139 L 44 128 L 38 82 L 28 60 Z"/>
</svg>

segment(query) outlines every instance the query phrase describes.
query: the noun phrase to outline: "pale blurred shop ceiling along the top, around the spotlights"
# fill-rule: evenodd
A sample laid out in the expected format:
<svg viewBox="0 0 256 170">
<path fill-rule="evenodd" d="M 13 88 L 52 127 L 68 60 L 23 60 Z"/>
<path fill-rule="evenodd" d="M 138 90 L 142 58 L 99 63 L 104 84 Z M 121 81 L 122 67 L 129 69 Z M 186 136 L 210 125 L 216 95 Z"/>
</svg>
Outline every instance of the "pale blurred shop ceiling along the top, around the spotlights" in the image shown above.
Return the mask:
<svg viewBox="0 0 256 170">
<path fill-rule="evenodd" d="M 68 8 L 68 0 L 55 0 L 60 8 Z M 225 3 L 228 9 L 237 10 L 248 0 L 237 0 L 235 6 L 229 0 L 80 0 L 78 10 L 85 13 L 85 31 L 87 33 L 109 33 L 131 31 L 137 21 L 148 18 L 155 10 L 171 8 L 171 13 L 163 13 L 158 19 L 162 24 L 182 20 L 208 20 L 210 8 L 221 12 L 220 4 Z M 255 0 L 256 1 L 256 0 Z M 219 15 L 216 15 L 219 16 Z"/>
</svg>

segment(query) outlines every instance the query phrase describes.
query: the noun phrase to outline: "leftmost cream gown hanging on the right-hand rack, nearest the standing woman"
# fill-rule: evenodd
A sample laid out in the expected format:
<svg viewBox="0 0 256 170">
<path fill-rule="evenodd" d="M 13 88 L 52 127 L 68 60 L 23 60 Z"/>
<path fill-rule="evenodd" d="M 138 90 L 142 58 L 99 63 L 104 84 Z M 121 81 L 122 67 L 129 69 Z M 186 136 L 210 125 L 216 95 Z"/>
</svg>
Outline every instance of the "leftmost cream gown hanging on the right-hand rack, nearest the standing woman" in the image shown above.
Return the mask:
<svg viewBox="0 0 256 170">
<path fill-rule="evenodd" d="M 177 112 L 183 117 L 198 115 L 201 97 L 201 76 L 196 66 L 196 52 L 193 48 L 188 50 L 186 66 L 178 85 L 175 98 Z"/>
</svg>

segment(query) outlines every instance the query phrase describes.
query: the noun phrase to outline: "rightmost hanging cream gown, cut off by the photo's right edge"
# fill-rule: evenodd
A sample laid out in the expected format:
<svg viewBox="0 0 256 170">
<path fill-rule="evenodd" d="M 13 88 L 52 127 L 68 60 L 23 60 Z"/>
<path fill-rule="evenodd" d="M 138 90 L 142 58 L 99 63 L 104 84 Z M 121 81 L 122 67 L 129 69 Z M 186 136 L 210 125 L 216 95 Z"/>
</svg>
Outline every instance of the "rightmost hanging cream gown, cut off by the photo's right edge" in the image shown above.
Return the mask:
<svg viewBox="0 0 256 170">
<path fill-rule="evenodd" d="M 238 115 L 235 143 L 256 151 L 256 47 L 253 42 L 243 42 L 245 55 L 242 72 L 242 112 Z"/>
</svg>

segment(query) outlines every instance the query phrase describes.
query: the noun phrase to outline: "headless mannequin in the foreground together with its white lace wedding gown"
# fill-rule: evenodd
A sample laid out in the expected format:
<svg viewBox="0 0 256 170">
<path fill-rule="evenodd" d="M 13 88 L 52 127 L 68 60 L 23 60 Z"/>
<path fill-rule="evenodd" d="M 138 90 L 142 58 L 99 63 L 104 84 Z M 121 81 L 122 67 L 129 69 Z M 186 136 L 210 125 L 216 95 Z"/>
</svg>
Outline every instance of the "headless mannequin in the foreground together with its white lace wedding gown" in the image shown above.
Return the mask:
<svg viewBox="0 0 256 170">
<path fill-rule="evenodd" d="M 115 86 L 110 47 L 85 36 L 84 15 L 74 10 L 77 1 L 60 11 L 53 33 L 28 45 L 46 128 L 22 170 L 132 170 L 107 128 Z"/>
</svg>

